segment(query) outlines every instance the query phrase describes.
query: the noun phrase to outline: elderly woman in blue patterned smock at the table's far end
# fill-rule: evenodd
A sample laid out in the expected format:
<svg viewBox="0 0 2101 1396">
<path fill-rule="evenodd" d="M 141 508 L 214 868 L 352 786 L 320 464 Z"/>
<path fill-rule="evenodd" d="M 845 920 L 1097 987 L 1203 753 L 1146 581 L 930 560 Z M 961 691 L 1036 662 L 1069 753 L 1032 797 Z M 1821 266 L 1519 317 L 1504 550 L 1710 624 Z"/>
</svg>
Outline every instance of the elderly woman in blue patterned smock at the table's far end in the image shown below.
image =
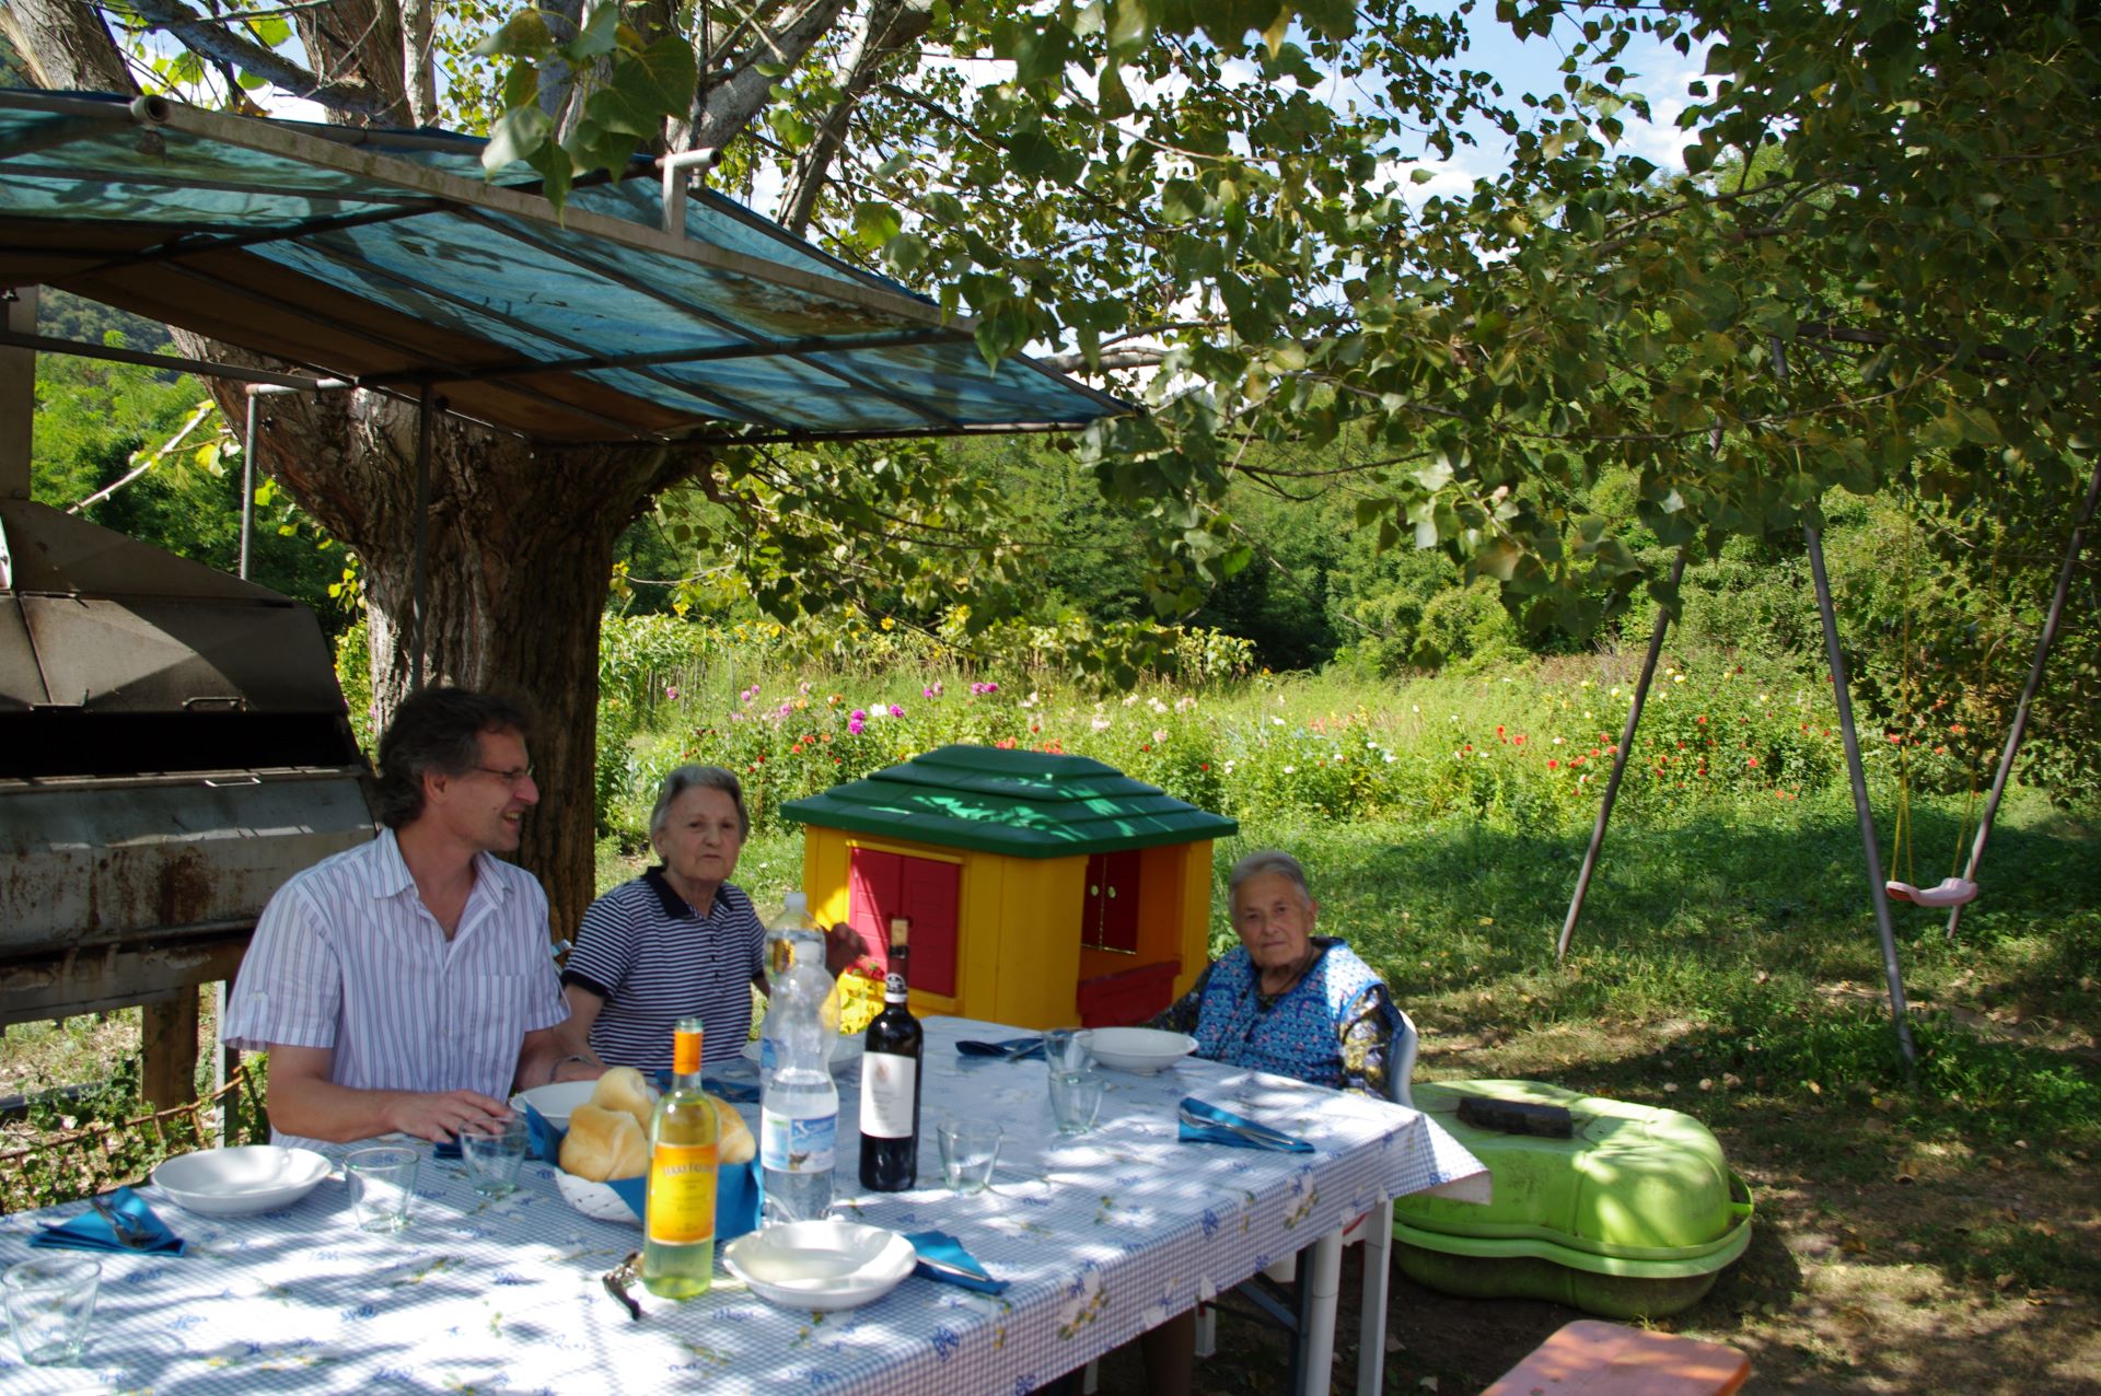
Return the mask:
<svg viewBox="0 0 2101 1396">
<path fill-rule="evenodd" d="M 1313 1085 L 1387 1094 L 1399 1014 L 1372 966 L 1315 936 L 1319 905 L 1288 852 L 1250 852 L 1227 877 L 1240 949 L 1204 970 L 1153 1027 L 1195 1037 L 1195 1054 Z"/>
</svg>

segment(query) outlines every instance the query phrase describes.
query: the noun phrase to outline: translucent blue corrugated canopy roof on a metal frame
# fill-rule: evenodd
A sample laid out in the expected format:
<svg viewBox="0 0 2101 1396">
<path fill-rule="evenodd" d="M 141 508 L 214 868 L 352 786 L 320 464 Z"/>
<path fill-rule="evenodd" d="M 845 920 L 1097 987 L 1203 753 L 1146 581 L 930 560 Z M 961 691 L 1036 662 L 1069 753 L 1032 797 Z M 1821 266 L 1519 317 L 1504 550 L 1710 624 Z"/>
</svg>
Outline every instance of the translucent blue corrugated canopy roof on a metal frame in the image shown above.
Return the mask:
<svg viewBox="0 0 2101 1396">
<path fill-rule="evenodd" d="M 0 285 L 44 283 L 546 441 L 933 437 L 1130 411 L 649 162 L 490 183 L 481 141 L 0 90 Z"/>
</svg>

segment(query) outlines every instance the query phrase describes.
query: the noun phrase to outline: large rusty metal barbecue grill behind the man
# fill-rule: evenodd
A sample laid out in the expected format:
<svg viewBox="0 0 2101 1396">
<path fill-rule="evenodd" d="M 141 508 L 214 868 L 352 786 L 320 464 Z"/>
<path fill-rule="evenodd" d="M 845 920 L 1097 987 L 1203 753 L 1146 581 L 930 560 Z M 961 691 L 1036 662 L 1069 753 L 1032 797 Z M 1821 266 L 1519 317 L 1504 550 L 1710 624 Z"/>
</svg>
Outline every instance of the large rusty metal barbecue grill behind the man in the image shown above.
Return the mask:
<svg viewBox="0 0 2101 1396">
<path fill-rule="evenodd" d="M 145 1096 L 187 1100 L 197 987 L 372 831 L 307 607 L 0 495 L 0 1024 L 145 1003 Z"/>
</svg>

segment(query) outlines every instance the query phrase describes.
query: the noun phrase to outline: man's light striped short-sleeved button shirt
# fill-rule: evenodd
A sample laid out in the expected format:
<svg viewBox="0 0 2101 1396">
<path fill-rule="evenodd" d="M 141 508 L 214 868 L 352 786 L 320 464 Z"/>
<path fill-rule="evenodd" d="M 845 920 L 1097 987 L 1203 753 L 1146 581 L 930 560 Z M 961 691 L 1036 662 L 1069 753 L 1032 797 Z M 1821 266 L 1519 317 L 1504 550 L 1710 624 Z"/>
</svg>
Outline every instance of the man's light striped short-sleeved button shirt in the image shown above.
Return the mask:
<svg viewBox="0 0 2101 1396">
<path fill-rule="evenodd" d="M 506 1100 L 525 1033 L 569 1016 L 546 930 L 540 880 L 479 852 L 448 940 L 382 829 L 269 898 L 227 995 L 223 1037 L 250 1052 L 330 1048 L 336 1085 Z"/>
</svg>

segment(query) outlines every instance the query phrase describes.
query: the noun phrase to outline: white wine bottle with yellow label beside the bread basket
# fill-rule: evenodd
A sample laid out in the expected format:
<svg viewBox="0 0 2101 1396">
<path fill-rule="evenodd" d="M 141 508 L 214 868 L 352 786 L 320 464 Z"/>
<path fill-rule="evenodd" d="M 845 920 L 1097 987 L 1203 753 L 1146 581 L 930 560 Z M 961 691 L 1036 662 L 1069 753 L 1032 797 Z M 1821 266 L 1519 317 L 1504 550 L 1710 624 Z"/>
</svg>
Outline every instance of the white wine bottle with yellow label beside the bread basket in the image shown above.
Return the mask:
<svg viewBox="0 0 2101 1396">
<path fill-rule="evenodd" d="M 719 1123 L 700 1090 L 700 1018 L 672 1029 L 672 1083 L 649 1117 L 649 1205 L 643 1209 L 643 1285 L 666 1299 L 708 1293 L 714 1281 Z"/>
</svg>

